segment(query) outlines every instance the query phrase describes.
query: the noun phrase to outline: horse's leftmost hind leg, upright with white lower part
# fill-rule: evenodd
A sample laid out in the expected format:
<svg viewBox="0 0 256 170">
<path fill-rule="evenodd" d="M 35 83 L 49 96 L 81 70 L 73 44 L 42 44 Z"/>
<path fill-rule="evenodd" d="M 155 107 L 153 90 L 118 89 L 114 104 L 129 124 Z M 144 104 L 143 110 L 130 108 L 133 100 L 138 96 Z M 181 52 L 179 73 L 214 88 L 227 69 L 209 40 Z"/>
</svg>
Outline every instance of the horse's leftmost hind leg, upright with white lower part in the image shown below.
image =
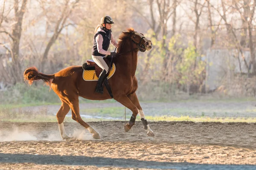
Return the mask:
<svg viewBox="0 0 256 170">
<path fill-rule="evenodd" d="M 61 100 L 61 102 L 62 102 L 61 103 L 61 108 L 59 109 L 59 111 L 56 115 L 57 120 L 58 120 L 58 127 L 59 127 L 59 130 L 60 130 L 60 133 L 61 133 L 61 138 L 62 139 L 70 139 L 70 137 L 67 136 L 67 134 L 65 132 L 65 128 L 64 128 L 64 124 L 63 124 L 65 116 L 70 111 L 70 107 L 63 100 Z"/>
</svg>

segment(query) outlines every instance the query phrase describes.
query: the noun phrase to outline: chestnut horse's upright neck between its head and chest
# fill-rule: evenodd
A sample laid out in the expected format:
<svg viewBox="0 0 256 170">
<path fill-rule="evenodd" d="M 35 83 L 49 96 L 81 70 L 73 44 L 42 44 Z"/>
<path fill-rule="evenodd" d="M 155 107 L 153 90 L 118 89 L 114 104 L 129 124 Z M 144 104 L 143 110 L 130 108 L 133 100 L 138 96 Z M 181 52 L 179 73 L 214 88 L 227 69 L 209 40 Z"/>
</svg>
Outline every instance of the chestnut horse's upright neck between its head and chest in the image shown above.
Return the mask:
<svg viewBox="0 0 256 170">
<path fill-rule="evenodd" d="M 131 46 L 131 45 L 129 45 Z M 132 48 L 132 47 L 131 47 Z M 135 71 L 137 69 L 137 51 L 131 51 L 132 49 L 128 49 L 127 51 L 120 51 L 120 56 L 116 58 L 116 66 L 120 67 L 122 71 L 127 74 L 134 77 Z M 122 54 L 125 53 L 125 54 Z"/>
</svg>

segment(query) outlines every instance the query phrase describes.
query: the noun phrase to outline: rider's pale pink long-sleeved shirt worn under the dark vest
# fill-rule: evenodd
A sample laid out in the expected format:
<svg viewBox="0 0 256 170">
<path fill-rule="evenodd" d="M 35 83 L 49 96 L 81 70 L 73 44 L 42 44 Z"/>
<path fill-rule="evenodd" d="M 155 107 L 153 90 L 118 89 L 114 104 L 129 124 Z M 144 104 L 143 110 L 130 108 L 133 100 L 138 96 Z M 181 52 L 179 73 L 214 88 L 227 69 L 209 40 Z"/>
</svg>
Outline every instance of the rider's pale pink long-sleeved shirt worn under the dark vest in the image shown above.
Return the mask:
<svg viewBox="0 0 256 170">
<path fill-rule="evenodd" d="M 98 28 L 97 31 L 101 31 L 101 32 L 105 32 L 102 28 Z M 106 33 L 106 32 L 105 32 Z M 95 37 L 95 40 L 97 42 L 97 49 L 98 49 L 98 52 L 100 54 L 104 54 L 104 55 L 110 55 L 110 51 L 105 51 L 103 48 L 102 48 L 102 43 L 103 43 L 103 37 L 101 34 L 98 34 L 96 37 Z M 114 39 L 113 37 L 113 34 L 111 33 L 111 40 L 110 40 L 111 44 L 114 46 L 114 47 L 117 47 L 117 42 L 116 40 Z"/>
</svg>

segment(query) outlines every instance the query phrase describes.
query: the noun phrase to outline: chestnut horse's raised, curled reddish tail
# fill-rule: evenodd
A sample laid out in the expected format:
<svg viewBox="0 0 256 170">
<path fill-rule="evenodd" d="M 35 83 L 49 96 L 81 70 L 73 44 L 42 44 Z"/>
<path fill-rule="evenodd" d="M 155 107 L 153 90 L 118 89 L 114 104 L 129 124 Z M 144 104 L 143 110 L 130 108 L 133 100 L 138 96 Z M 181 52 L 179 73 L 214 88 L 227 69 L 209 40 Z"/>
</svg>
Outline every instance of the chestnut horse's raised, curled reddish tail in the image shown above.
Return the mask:
<svg viewBox="0 0 256 170">
<path fill-rule="evenodd" d="M 54 79 L 55 74 L 43 74 L 38 72 L 36 67 L 27 68 L 24 71 L 23 77 L 24 80 L 29 82 L 29 85 L 32 85 L 33 81 L 35 80 L 43 80 L 47 85 L 51 87 L 52 79 Z"/>
</svg>

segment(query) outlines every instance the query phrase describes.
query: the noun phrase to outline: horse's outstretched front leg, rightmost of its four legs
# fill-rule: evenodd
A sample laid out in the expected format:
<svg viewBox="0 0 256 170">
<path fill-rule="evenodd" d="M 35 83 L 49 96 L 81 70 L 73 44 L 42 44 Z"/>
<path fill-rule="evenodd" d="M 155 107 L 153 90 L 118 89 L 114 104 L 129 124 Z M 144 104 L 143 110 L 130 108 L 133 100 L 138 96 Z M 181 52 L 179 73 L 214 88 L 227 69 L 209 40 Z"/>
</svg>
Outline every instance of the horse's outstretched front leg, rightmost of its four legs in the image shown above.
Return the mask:
<svg viewBox="0 0 256 170">
<path fill-rule="evenodd" d="M 147 120 L 145 119 L 145 114 L 144 114 L 144 112 L 143 112 L 143 110 L 142 110 L 142 108 L 141 108 L 141 106 L 140 106 L 140 102 L 139 102 L 139 100 L 138 100 L 138 98 L 137 98 L 136 93 L 134 93 L 134 94 L 129 94 L 129 95 L 128 95 L 128 98 L 129 98 L 129 99 L 131 100 L 131 102 L 133 102 L 134 105 L 136 105 L 136 107 L 139 109 L 140 120 L 141 120 L 141 122 L 142 122 L 143 129 L 145 129 L 145 130 L 147 131 L 147 135 L 148 135 L 148 136 L 152 136 L 152 137 L 155 136 L 153 130 L 151 130 L 151 128 L 150 128 L 149 125 L 148 125 Z M 132 119 L 132 118 L 131 118 L 131 119 Z M 130 121 L 131 121 L 131 120 L 130 120 Z"/>
</svg>

